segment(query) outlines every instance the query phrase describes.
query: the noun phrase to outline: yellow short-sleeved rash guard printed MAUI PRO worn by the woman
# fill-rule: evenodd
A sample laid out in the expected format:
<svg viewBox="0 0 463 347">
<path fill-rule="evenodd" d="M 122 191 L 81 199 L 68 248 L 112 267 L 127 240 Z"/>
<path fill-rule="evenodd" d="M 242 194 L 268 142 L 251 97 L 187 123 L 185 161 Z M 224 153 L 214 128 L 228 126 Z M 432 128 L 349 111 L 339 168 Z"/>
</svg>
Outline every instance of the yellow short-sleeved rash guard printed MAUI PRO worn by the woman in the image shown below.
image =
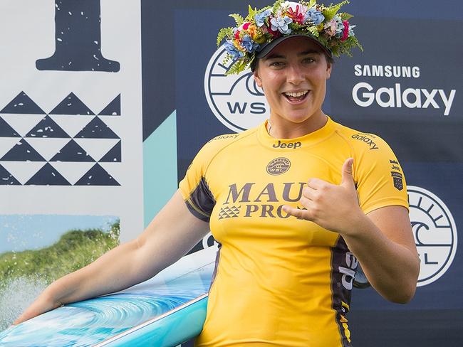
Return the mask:
<svg viewBox="0 0 463 347">
<path fill-rule="evenodd" d="M 402 169 L 383 139 L 329 118 L 296 139 L 274 139 L 264 123 L 199 151 L 180 191 L 220 247 L 196 346 L 351 346 L 357 260 L 338 233 L 282 210 L 302 208 L 308 178 L 339 184 L 349 157 L 364 213 L 408 208 Z"/>
</svg>

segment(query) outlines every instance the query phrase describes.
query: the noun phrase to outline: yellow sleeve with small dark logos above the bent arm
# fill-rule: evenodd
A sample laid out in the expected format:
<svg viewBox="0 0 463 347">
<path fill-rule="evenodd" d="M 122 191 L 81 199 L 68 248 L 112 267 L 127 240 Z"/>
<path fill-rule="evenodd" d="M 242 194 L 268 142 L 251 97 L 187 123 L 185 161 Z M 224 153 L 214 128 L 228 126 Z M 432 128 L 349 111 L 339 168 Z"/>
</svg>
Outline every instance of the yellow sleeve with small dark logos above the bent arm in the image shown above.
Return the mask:
<svg viewBox="0 0 463 347">
<path fill-rule="evenodd" d="M 390 205 L 408 209 L 405 176 L 394 152 L 380 137 L 363 135 L 368 142 L 356 143 L 357 164 L 354 164 L 360 208 L 365 214 Z"/>
</svg>

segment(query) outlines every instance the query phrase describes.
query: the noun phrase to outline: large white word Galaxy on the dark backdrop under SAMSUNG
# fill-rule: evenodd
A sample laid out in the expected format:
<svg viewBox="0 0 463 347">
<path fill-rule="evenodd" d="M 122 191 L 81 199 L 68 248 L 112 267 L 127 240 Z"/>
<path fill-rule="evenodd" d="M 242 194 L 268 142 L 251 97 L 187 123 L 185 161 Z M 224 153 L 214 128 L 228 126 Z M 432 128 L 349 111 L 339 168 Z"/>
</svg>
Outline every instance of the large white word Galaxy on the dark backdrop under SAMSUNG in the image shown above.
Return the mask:
<svg viewBox="0 0 463 347">
<path fill-rule="evenodd" d="M 407 107 L 410 109 L 444 109 L 444 116 L 452 110 L 452 103 L 457 91 L 446 92 L 442 89 L 407 88 L 402 90 L 400 83 L 393 86 L 374 88 L 367 82 L 358 82 L 352 89 L 352 98 L 360 107 L 369 107 L 375 103 L 380 107 Z"/>
</svg>

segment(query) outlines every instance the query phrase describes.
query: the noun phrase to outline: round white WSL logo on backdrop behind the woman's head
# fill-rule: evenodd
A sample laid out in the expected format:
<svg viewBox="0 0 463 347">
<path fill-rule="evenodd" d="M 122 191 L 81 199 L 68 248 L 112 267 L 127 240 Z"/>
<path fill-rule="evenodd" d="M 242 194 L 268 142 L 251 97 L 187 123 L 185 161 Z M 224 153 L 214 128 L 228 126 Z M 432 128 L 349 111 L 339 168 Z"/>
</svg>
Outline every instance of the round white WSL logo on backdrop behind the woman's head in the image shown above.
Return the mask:
<svg viewBox="0 0 463 347">
<path fill-rule="evenodd" d="M 223 64 L 227 55 L 224 46 L 212 55 L 204 75 L 204 92 L 212 113 L 234 132 L 256 127 L 269 117 L 269 105 L 264 92 L 256 85 L 251 70 L 239 75 L 225 75 L 231 61 Z"/>
</svg>

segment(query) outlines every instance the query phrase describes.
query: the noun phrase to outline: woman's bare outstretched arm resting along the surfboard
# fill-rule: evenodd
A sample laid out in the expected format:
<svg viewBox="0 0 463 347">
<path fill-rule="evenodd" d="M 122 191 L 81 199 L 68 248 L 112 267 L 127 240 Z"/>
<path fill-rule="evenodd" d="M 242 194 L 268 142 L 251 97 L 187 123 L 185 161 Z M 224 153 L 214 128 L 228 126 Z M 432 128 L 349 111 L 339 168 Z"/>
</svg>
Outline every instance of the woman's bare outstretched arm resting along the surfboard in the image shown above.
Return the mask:
<svg viewBox="0 0 463 347">
<path fill-rule="evenodd" d="M 185 255 L 208 231 L 209 224 L 189 212 L 177 191 L 139 237 L 57 279 L 14 324 L 62 304 L 118 292 L 150 279 Z"/>
</svg>

